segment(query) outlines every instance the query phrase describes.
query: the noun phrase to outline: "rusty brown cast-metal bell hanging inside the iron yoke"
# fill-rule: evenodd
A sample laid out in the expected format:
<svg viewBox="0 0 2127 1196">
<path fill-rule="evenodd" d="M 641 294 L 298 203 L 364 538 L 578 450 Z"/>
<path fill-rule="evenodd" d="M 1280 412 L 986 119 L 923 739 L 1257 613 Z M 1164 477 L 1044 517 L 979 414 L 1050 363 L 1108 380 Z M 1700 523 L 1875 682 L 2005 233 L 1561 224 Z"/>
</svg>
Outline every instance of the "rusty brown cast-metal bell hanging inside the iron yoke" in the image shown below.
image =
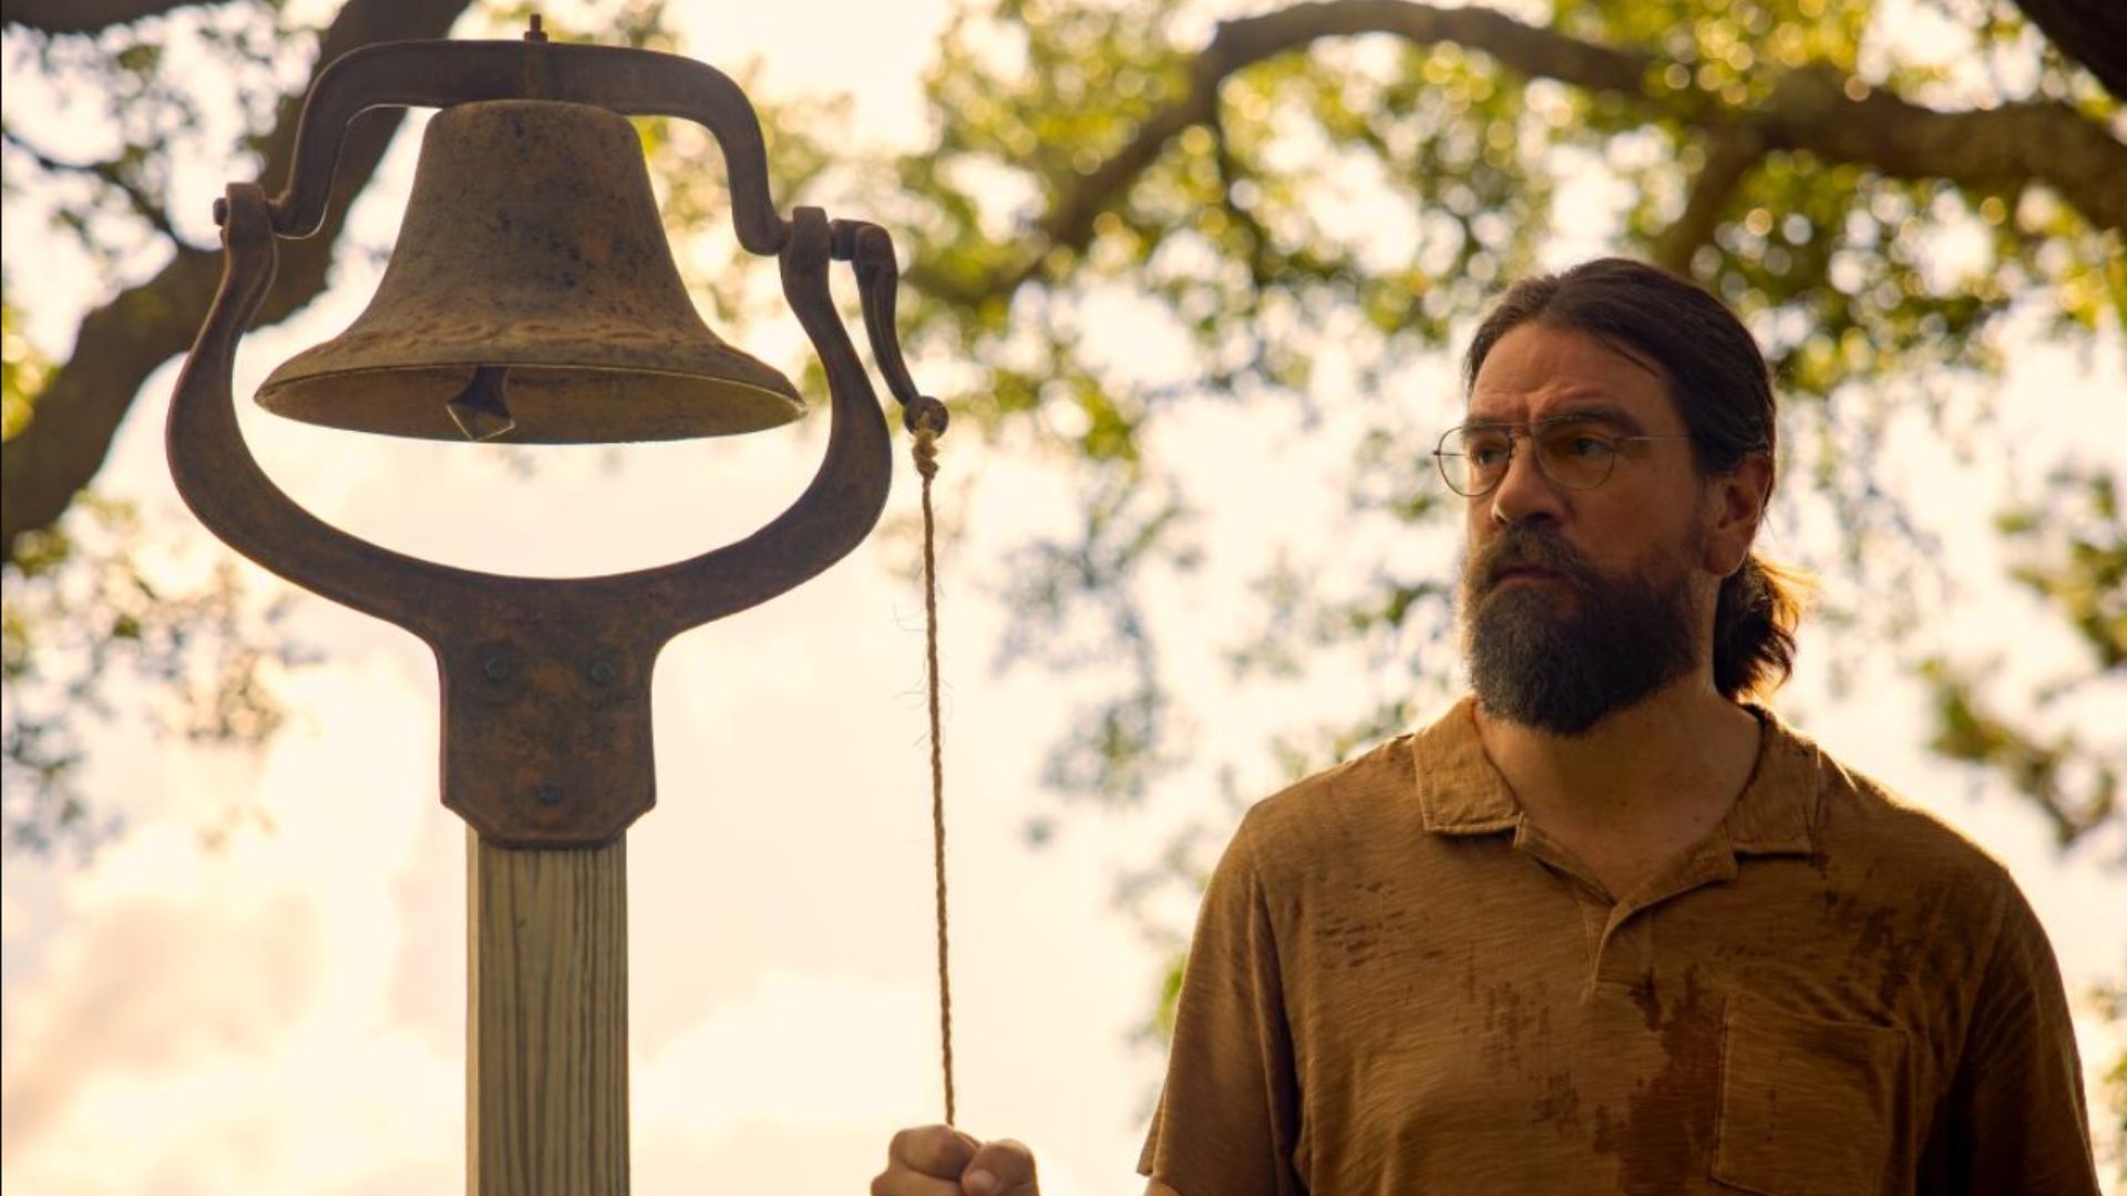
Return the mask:
<svg viewBox="0 0 2127 1196">
<path fill-rule="evenodd" d="M 257 402 L 357 432 L 536 445 L 804 415 L 789 379 L 696 313 L 634 126 L 551 100 L 436 113 L 370 306 L 281 364 Z"/>
</svg>

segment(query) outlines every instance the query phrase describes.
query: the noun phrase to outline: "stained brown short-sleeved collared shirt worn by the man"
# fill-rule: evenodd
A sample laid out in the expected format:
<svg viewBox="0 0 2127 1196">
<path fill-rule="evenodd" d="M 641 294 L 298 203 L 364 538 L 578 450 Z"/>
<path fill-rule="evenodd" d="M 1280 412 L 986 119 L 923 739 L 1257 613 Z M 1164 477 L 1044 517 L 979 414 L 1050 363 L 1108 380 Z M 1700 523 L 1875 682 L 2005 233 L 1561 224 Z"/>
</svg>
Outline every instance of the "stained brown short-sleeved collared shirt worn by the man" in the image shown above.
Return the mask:
<svg viewBox="0 0 2127 1196">
<path fill-rule="evenodd" d="M 2008 873 L 1772 715 L 1612 898 L 1470 700 L 1257 804 L 1204 894 L 1138 1170 L 1183 1196 L 2095 1194 Z"/>
</svg>

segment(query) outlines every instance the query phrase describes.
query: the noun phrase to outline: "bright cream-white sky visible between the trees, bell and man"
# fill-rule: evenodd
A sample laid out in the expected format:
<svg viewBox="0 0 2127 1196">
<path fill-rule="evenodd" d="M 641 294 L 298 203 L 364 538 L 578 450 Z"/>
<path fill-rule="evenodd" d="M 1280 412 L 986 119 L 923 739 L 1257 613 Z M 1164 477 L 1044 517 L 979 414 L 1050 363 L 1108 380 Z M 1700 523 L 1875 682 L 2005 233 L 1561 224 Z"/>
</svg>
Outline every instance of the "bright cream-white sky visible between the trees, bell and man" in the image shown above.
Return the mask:
<svg viewBox="0 0 2127 1196">
<path fill-rule="evenodd" d="M 770 94 L 851 89 L 857 136 L 912 140 L 942 19 L 927 0 L 785 0 L 715 26 L 700 15 L 689 49 L 723 66 L 766 55 Z M 402 138 L 387 166 L 396 187 L 357 209 L 381 236 L 411 149 Z M 36 253 L 11 221 L 11 275 Z M 249 336 L 238 394 L 345 326 L 372 285 L 374 268 L 351 264 L 302 317 Z M 47 334 L 66 323 L 64 311 L 38 315 Z M 1451 387 L 1444 364 L 1427 368 Z M 2121 377 L 2118 347 L 2091 368 Z M 2012 421 L 2027 419 L 2031 436 L 2072 423 L 2089 443 L 2127 443 L 2127 417 L 2082 370 L 2061 353 L 2029 355 L 2006 383 Z M 174 364 L 149 381 L 102 483 L 143 502 L 157 551 L 183 570 L 213 562 L 215 547 L 162 464 L 172 381 Z M 2059 419 L 2061 396 L 2074 419 Z M 387 547 L 504 572 L 604 572 L 727 543 L 795 498 L 821 447 L 821 421 L 808 421 L 736 443 L 630 447 L 623 468 L 606 451 L 542 451 L 521 477 L 459 445 L 383 443 L 240 406 L 268 472 L 311 511 Z M 1344 683 L 1317 677 L 1274 696 L 1227 685 L 1219 647 L 1253 609 L 1246 566 L 1219 562 L 1332 519 L 1355 428 L 1332 411 L 1297 436 L 1293 423 L 1219 409 L 1161 432 L 1202 462 L 1193 481 L 1217 513 L 1206 538 L 1236 549 L 1155 594 L 1159 617 L 1191 632 L 1168 666 L 1193 702 L 1202 796 L 1138 815 L 1066 811 L 1040 851 L 1023 828 L 1057 813 L 1038 775 L 1068 711 L 1053 679 L 991 668 L 1002 613 L 989 594 L 1006 547 L 1068 526 L 1070 489 L 972 436 L 944 445 L 942 485 L 964 513 L 942 579 L 961 1122 L 1032 1143 L 1051 1196 L 1140 1187 L 1159 1056 L 1136 1028 L 1163 956 L 1117 909 L 1119 875 L 1176 828 L 1232 826 L 1210 762 L 1249 758 Z M 1955 477 L 1923 436 L 1893 434 L 1908 436 L 1899 468 Z M 898 470 L 889 521 L 915 502 L 906 460 Z M 1984 526 L 1999 498 L 1938 489 L 1929 517 L 1950 528 Z M 1819 532 L 1797 521 L 1774 534 Z M 1984 536 L 1953 536 L 1946 551 L 1993 564 Z M 1953 617 L 2019 617 L 2004 602 Z M 113 724 L 89 783 L 123 796 L 128 834 L 87 864 L 6 864 L 9 1192 L 366 1196 L 462 1183 L 466 830 L 436 796 L 434 664 L 404 632 L 325 602 L 294 619 L 330 653 L 287 681 L 296 726 L 240 755 Z M 2127 907 L 2127 881 L 2101 853 L 2063 860 L 2038 819 L 1974 800 L 1963 773 L 1912 747 L 1925 711 L 1908 687 L 1863 666 L 1836 696 L 1810 643 L 1804 632 L 1782 711 L 2008 862 L 2072 990 L 2127 966 L 2127 924 L 2112 913 Z M 659 660 L 659 804 L 627 849 L 636 1190 L 864 1190 L 895 1128 L 940 1117 L 921 681 L 921 592 L 906 543 L 885 536 Z M 232 811 L 264 817 L 232 824 Z M 217 826 L 234 830 L 202 847 Z M 2091 1060 L 2110 1058 L 2095 1024 L 2084 1030 Z"/>
</svg>

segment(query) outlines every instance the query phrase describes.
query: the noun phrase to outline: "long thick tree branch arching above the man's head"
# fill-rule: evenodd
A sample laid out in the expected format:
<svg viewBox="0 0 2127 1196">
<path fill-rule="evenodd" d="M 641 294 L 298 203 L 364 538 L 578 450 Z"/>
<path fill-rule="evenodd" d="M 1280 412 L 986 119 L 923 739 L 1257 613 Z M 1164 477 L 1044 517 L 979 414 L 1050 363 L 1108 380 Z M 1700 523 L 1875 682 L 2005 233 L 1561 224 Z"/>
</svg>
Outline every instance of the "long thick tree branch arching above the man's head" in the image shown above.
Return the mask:
<svg viewBox="0 0 2127 1196">
<path fill-rule="evenodd" d="M 1040 238 L 1015 270 L 987 285 L 944 285 L 912 270 L 912 285 L 936 285 L 940 298 L 976 300 L 1010 294 L 1040 270 L 1051 249 L 1083 251 L 1093 217 L 1119 204 L 1136 179 L 1183 130 L 1208 123 L 1219 87 L 1246 66 L 1293 53 L 1323 38 L 1391 34 L 1412 45 L 1455 43 L 1531 79 L 1553 79 L 1585 92 L 1617 96 L 1651 119 L 1665 117 L 1731 147 L 1751 140 L 1768 149 L 1802 149 L 1831 164 L 1861 164 L 1902 179 L 2012 189 L 2046 183 L 2099 228 L 2127 226 L 2127 145 L 2104 126 L 2063 104 L 2002 104 L 1980 111 L 1936 111 L 1882 92 L 1848 94 L 1850 81 L 1831 68 L 1789 72 L 1757 106 L 1727 106 L 1704 92 L 1670 92 L 1653 83 L 1665 60 L 1585 43 L 1489 9 L 1434 9 L 1417 0 L 1308 0 L 1257 17 L 1221 21 L 1189 66 L 1191 87 L 1153 113 L 1136 136 L 1089 175 L 1064 189 L 1038 221 Z M 1738 153 L 1725 149 L 1721 153 Z M 1714 157 L 1708 160 L 1712 170 Z M 1748 162 L 1723 162 L 1738 177 Z M 1719 181 L 1714 177 L 1712 181 Z M 1702 204 L 1725 198 L 1706 192 Z M 1687 215 L 1693 215 L 1687 211 Z M 1719 215 L 1719 209 L 1714 209 Z M 1693 215 L 1702 219 L 1706 213 Z M 1674 228 L 1657 247 L 1689 260 L 1689 228 Z M 1695 247 L 1695 243 L 1693 243 Z"/>
</svg>

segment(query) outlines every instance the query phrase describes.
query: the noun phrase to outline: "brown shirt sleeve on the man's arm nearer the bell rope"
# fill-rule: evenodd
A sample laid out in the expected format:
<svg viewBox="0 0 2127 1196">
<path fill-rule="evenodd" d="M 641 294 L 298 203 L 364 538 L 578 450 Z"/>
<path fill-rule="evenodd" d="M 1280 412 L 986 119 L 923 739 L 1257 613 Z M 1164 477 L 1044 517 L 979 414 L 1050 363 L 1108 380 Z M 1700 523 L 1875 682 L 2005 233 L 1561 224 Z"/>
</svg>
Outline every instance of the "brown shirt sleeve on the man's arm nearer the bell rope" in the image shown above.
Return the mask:
<svg viewBox="0 0 2127 1196">
<path fill-rule="evenodd" d="M 1138 1173 L 1180 1196 L 1300 1194 L 1297 1132 L 1278 945 L 1244 819 L 1204 890 Z"/>
</svg>

